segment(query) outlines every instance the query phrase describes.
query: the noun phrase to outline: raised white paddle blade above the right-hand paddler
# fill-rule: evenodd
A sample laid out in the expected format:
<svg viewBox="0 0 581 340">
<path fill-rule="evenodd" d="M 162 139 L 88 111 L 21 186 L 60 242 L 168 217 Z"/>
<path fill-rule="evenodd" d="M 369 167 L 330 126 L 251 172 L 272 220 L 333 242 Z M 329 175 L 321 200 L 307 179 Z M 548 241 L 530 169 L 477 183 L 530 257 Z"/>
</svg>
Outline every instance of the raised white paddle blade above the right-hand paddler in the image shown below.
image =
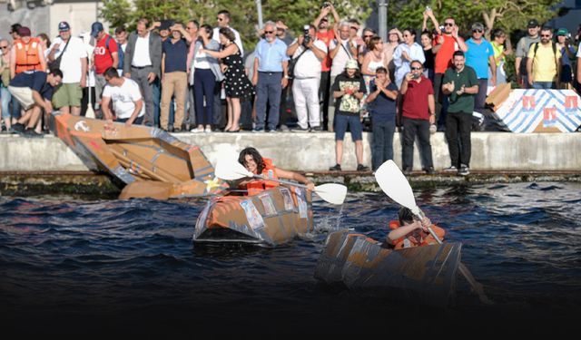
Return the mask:
<svg viewBox="0 0 581 340">
<path fill-rule="evenodd" d="M 379 188 L 390 199 L 393 199 L 399 205 L 411 209 L 414 214 L 416 214 L 416 211 L 419 212 L 409 182 L 393 160 L 388 160 L 381 164 L 379 169 L 375 171 L 375 180 L 378 181 Z"/>
</svg>

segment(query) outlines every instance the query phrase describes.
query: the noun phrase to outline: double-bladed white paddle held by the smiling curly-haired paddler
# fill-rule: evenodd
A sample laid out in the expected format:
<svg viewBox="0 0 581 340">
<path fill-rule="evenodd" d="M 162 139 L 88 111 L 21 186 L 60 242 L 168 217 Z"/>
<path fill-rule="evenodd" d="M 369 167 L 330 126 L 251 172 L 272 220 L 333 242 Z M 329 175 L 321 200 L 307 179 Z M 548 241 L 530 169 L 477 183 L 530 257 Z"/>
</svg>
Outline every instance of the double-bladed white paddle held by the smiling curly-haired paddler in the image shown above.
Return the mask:
<svg viewBox="0 0 581 340">
<path fill-rule="evenodd" d="M 289 180 L 279 180 L 265 178 L 262 175 L 255 175 L 251 171 L 246 170 L 241 163 L 233 160 L 220 160 L 216 164 L 214 171 L 216 177 L 222 180 L 240 180 L 245 177 L 261 180 L 274 180 L 282 184 L 289 184 L 295 187 L 307 189 L 306 185 L 291 182 Z M 315 193 L 319 197 L 331 204 L 343 204 L 345 196 L 347 195 L 347 187 L 337 183 L 326 183 L 315 187 Z"/>
</svg>

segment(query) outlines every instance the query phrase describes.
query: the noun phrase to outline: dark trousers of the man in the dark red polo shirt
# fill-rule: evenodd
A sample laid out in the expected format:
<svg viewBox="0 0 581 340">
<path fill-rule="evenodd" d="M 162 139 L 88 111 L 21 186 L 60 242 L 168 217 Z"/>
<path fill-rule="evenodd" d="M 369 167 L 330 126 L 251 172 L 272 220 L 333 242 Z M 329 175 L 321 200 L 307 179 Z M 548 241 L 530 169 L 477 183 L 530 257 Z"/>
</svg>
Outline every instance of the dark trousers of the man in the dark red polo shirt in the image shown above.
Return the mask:
<svg viewBox="0 0 581 340">
<path fill-rule="evenodd" d="M 420 158 L 424 169 L 434 166 L 432 160 L 432 145 L 429 142 L 429 121 L 401 118 L 403 123 L 403 149 L 401 152 L 403 169 L 414 167 L 414 141 L 419 139 Z"/>
</svg>

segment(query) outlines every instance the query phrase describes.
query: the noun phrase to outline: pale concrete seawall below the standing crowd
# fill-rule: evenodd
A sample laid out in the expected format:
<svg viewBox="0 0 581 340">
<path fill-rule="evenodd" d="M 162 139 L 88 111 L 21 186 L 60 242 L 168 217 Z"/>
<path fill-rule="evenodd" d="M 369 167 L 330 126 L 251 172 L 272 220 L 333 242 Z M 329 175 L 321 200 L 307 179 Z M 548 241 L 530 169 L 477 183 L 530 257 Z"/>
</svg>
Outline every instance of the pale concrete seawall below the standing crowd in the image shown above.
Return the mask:
<svg viewBox="0 0 581 340">
<path fill-rule="evenodd" d="M 234 155 L 246 146 L 256 147 L 284 169 L 326 171 L 335 164 L 334 134 L 320 133 L 175 133 L 180 140 L 200 145 L 212 163 L 219 155 Z M 364 163 L 371 162 L 371 134 L 363 134 Z M 436 170 L 449 166 L 448 144 L 444 134 L 431 137 Z M 400 135 L 394 139 L 394 158 L 401 165 Z M 507 132 L 472 133 L 471 170 L 481 171 L 579 171 L 581 170 L 581 133 Z M 418 148 L 414 152 L 414 169 L 420 170 Z M 233 157 L 233 156 L 232 156 Z M 355 170 L 354 144 L 348 133 L 344 142 L 343 170 Z M 44 139 L 25 139 L 0 135 L 0 171 L 86 171 L 88 169 L 63 141 L 52 135 Z"/>
</svg>

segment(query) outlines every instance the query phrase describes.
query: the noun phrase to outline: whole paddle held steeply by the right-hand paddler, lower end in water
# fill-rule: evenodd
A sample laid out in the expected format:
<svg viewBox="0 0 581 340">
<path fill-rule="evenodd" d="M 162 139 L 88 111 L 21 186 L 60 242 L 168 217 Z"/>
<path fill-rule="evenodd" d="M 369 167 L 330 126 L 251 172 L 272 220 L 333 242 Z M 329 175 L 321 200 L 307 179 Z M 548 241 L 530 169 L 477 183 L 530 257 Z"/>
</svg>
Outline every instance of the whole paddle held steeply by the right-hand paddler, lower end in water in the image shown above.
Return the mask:
<svg viewBox="0 0 581 340">
<path fill-rule="evenodd" d="M 410 209 L 419 220 L 424 218 L 424 213 L 416 204 L 416 199 L 414 198 L 414 193 L 409 186 L 408 180 L 403 175 L 403 173 L 401 173 L 398 165 L 396 165 L 393 160 L 388 160 L 381 164 L 379 169 L 375 171 L 375 179 L 378 181 L 379 188 L 381 188 L 390 199 L 393 199 L 400 205 Z M 439 244 L 442 243 L 432 228 L 428 227 L 428 231 L 432 237 L 438 241 Z M 460 263 L 458 269 L 460 270 L 460 273 L 466 277 L 472 289 L 474 289 L 474 291 L 478 294 L 480 301 L 484 304 L 490 304 L 491 301 L 484 294 L 482 285 L 478 283 L 476 278 L 472 276 L 468 270 L 468 267 Z"/>
</svg>

